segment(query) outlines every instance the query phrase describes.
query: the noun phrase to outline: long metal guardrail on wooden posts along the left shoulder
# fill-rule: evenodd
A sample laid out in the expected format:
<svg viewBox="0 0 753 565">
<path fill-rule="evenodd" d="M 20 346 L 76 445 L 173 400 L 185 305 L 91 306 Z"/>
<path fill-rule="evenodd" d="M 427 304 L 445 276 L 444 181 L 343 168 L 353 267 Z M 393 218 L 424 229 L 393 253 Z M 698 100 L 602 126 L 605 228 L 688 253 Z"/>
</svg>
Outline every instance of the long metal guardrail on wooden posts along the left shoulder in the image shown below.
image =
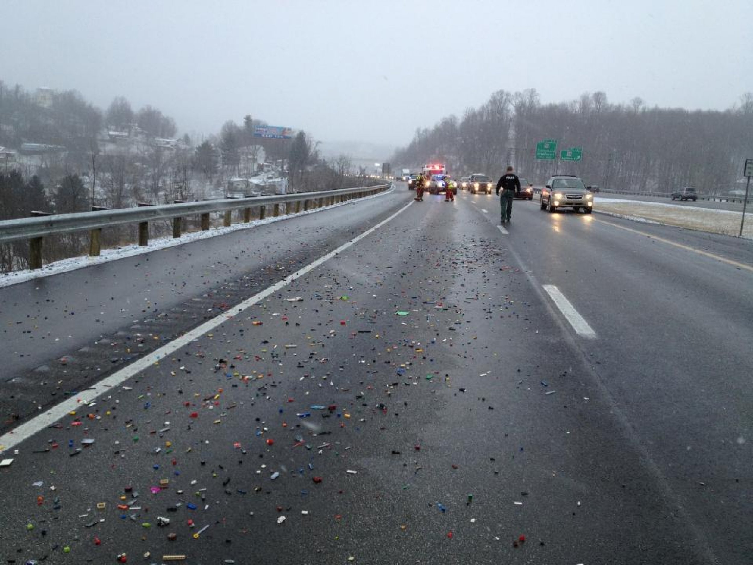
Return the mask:
<svg viewBox="0 0 753 565">
<path fill-rule="evenodd" d="M 148 243 L 148 223 L 156 220 L 172 219 L 172 236 L 181 236 L 182 218 L 191 215 L 201 216 L 201 229 L 209 230 L 209 218 L 212 212 L 225 212 L 224 225 L 229 226 L 233 210 L 244 210 L 243 221 L 251 221 L 251 210 L 258 208 L 260 218 L 266 215 L 267 206 L 273 206 L 273 215 L 280 212 L 280 204 L 296 203 L 295 213 L 331 206 L 331 204 L 361 198 L 370 194 L 386 191 L 391 185 L 377 185 L 360 188 L 342 188 L 336 191 L 299 192 L 275 196 L 225 198 L 222 200 L 204 200 L 178 204 L 141 206 L 98 210 L 96 212 L 75 212 L 72 214 L 41 215 L 32 218 L 17 218 L 0 221 L 0 243 L 29 240 L 29 267 L 39 269 L 42 266 L 41 245 L 44 237 L 55 234 L 69 234 L 77 231 L 90 231 L 89 255 L 99 255 L 99 234 L 102 228 L 115 225 L 139 224 L 139 245 Z"/>
</svg>

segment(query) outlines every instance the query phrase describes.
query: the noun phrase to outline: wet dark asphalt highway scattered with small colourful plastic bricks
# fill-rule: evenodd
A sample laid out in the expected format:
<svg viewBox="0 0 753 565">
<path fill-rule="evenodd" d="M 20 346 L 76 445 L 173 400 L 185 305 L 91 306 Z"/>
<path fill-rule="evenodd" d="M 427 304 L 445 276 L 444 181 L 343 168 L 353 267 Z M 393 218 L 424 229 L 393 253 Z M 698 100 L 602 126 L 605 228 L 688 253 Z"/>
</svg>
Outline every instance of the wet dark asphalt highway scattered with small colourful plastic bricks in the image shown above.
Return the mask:
<svg viewBox="0 0 753 565">
<path fill-rule="evenodd" d="M 748 563 L 750 242 L 412 194 L 0 289 L 0 559 Z"/>
</svg>

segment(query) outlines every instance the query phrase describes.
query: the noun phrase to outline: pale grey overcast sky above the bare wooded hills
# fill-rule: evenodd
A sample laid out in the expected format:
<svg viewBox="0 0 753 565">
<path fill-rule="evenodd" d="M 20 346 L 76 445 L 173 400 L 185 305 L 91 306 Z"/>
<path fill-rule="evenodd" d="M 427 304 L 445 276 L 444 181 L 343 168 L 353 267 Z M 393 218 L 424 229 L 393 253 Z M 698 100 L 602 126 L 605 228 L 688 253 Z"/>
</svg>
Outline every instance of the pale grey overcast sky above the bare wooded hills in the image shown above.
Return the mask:
<svg viewBox="0 0 753 565">
<path fill-rule="evenodd" d="M 244 115 L 406 145 L 496 90 L 724 110 L 753 91 L 751 0 L 2 0 L 0 80 L 125 96 L 180 133 Z"/>
</svg>

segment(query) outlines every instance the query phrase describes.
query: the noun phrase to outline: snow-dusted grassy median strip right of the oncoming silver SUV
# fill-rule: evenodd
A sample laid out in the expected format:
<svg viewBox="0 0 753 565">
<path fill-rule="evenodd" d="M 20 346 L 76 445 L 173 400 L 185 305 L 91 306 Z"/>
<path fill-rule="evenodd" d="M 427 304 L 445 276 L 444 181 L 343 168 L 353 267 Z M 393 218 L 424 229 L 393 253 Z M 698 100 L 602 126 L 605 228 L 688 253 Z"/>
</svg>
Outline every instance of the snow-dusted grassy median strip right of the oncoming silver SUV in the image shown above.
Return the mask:
<svg viewBox="0 0 753 565">
<path fill-rule="evenodd" d="M 682 206 L 662 202 L 642 202 L 619 198 L 596 197 L 595 212 L 615 215 L 633 221 L 673 225 L 688 230 L 708 231 L 712 234 L 737 236 L 740 233 L 742 212 L 717 210 L 699 206 Z M 751 210 L 753 212 L 753 210 Z M 742 237 L 753 239 L 753 215 L 745 211 Z"/>
</svg>

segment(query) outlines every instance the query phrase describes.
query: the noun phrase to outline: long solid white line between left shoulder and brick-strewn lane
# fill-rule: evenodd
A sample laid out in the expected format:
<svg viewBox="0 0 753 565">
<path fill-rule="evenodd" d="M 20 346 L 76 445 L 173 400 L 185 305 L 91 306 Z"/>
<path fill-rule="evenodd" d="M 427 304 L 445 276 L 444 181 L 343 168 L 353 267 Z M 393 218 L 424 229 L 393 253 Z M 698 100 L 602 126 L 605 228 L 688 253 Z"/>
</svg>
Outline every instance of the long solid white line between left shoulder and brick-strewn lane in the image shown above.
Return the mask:
<svg viewBox="0 0 753 565">
<path fill-rule="evenodd" d="M 0 454 L 2 454 L 6 450 L 12 449 L 17 444 L 20 444 L 22 441 L 30 438 L 32 435 L 41 431 L 42 429 L 51 426 L 57 420 L 64 417 L 66 414 L 69 414 L 69 412 L 81 411 L 100 395 L 105 394 L 105 392 L 112 392 L 114 386 L 120 385 L 140 371 L 144 371 L 146 368 L 159 362 L 160 359 L 166 359 L 169 355 L 171 355 L 184 345 L 187 345 L 191 343 L 191 341 L 199 339 L 201 336 L 203 336 L 203 334 L 212 331 L 213 329 L 217 328 L 218 325 L 221 325 L 228 319 L 232 319 L 233 317 L 238 316 L 244 310 L 248 310 L 248 308 L 258 303 L 258 301 L 261 301 L 264 298 L 267 298 L 267 296 L 274 294 L 285 286 L 288 286 L 295 279 L 305 275 L 310 270 L 319 267 L 319 265 L 321 265 L 325 261 L 328 261 L 338 253 L 343 252 L 345 249 L 348 249 L 354 243 L 358 243 L 358 241 L 361 241 L 362 239 L 364 239 L 364 237 L 367 237 L 374 231 L 377 231 L 379 228 L 381 228 L 384 224 L 387 224 L 389 221 L 392 221 L 394 218 L 398 217 L 398 215 L 407 210 L 408 207 L 413 204 L 413 202 L 414 200 L 410 200 L 410 202 L 407 203 L 406 206 L 403 206 L 397 212 L 389 216 L 389 218 L 380 221 L 380 223 L 373 226 L 373 228 L 369 228 L 367 231 L 364 231 L 363 234 L 360 234 L 354 237 L 352 240 L 343 243 L 343 245 L 341 245 L 334 251 L 329 252 L 327 255 L 322 255 L 322 257 L 316 259 L 316 261 L 312 261 L 311 263 L 307 264 L 306 267 L 302 267 L 295 273 L 286 276 L 281 281 L 276 282 L 276 284 L 274 284 L 273 286 L 270 286 L 267 289 L 259 292 L 258 295 L 254 295 L 251 298 L 248 298 L 248 300 L 242 301 L 237 306 L 230 308 L 230 310 L 226 310 L 220 316 L 210 319 L 208 322 L 204 322 L 202 325 L 181 335 L 181 337 L 176 338 L 169 344 L 163 345 L 163 347 L 160 347 L 160 349 L 154 350 L 152 353 L 149 353 L 148 355 L 142 357 L 142 359 L 139 359 L 138 361 L 131 363 L 127 367 L 120 369 L 120 371 L 111 374 L 109 377 L 100 380 L 99 383 L 93 384 L 86 390 L 81 391 L 80 394 L 61 402 L 59 405 L 53 406 L 53 408 L 50 408 L 50 410 L 45 412 L 44 414 L 39 414 L 38 416 L 32 418 L 32 420 L 21 424 L 13 431 L 0 436 Z"/>
</svg>

